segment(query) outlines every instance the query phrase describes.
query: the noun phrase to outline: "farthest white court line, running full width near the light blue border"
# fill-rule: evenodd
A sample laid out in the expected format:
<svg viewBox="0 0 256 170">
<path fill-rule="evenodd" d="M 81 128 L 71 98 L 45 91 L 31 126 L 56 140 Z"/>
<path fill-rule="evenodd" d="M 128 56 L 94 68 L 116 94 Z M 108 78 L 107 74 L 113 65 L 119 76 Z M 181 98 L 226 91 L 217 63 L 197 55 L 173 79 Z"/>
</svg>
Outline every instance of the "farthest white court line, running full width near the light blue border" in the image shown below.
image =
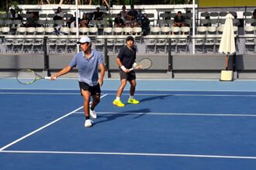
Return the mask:
<svg viewBox="0 0 256 170">
<path fill-rule="evenodd" d="M 80 95 L 80 93 L 33 93 L 33 92 L 2 92 L 0 94 L 32 94 L 32 95 Z M 116 93 L 108 93 L 109 95 L 116 95 Z M 130 93 L 123 93 L 123 95 L 130 95 Z M 256 94 L 166 94 L 166 93 L 137 93 L 137 96 L 187 96 L 187 97 L 256 97 Z"/>
</svg>

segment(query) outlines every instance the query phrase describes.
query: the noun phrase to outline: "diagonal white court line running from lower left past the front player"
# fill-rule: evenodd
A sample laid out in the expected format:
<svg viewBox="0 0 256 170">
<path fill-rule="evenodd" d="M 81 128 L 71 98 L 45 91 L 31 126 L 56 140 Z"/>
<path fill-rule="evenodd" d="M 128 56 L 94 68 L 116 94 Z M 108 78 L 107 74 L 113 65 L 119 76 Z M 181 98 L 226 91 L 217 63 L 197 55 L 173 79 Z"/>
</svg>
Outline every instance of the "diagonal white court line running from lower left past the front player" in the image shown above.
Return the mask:
<svg viewBox="0 0 256 170">
<path fill-rule="evenodd" d="M 102 95 L 101 98 L 102 98 L 102 97 L 106 97 L 106 95 L 108 95 L 108 94 L 106 93 L 106 94 Z M 76 110 L 73 110 L 73 111 L 69 112 L 68 114 L 65 114 L 65 115 L 62 116 L 62 117 L 57 118 L 57 119 L 54 120 L 54 121 L 51 121 L 49 124 L 46 124 L 46 125 L 44 125 L 43 127 L 38 128 L 38 129 L 36 129 L 35 131 L 30 132 L 29 134 L 26 134 L 25 136 L 23 136 L 22 138 L 17 139 L 16 141 L 12 141 L 11 143 L 9 143 L 9 145 L 5 145 L 4 147 L 0 148 L 0 152 L 3 151 L 5 148 L 9 148 L 10 146 L 15 145 L 16 143 L 18 143 L 19 141 L 22 141 L 23 139 L 28 138 L 28 137 L 31 136 L 32 134 L 36 134 L 36 132 L 41 131 L 41 130 L 43 130 L 44 128 L 49 127 L 51 124 L 54 124 L 54 123 L 56 123 L 57 121 L 61 121 L 61 119 L 64 119 L 64 117 L 67 117 L 67 116 L 69 116 L 69 115 L 71 115 L 71 114 L 74 114 L 76 111 L 80 110 L 81 108 L 83 108 L 83 106 L 82 106 L 82 107 L 79 107 L 79 108 L 76 109 Z"/>
</svg>

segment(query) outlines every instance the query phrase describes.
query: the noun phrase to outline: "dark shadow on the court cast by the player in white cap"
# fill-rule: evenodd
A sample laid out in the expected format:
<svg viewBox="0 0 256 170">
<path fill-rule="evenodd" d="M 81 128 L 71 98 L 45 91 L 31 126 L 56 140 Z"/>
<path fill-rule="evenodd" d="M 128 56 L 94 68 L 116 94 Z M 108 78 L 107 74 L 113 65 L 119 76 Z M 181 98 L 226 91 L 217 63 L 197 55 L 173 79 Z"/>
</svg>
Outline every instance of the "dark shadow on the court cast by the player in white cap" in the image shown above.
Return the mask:
<svg viewBox="0 0 256 170">
<path fill-rule="evenodd" d="M 142 117 L 144 114 L 150 113 L 150 109 L 149 108 L 144 108 L 144 109 L 139 109 L 139 110 L 127 110 L 127 111 L 123 111 L 123 112 L 118 112 L 118 113 L 109 113 L 109 114 L 98 114 L 98 117 L 101 118 L 106 118 L 105 120 L 102 121 L 97 121 L 95 122 L 95 124 L 99 124 L 102 122 L 106 122 L 106 121 L 113 121 L 119 117 L 125 117 L 128 116 L 130 114 L 135 114 L 137 115 L 136 117 L 133 117 L 133 119 L 137 119 L 139 117 Z"/>
</svg>

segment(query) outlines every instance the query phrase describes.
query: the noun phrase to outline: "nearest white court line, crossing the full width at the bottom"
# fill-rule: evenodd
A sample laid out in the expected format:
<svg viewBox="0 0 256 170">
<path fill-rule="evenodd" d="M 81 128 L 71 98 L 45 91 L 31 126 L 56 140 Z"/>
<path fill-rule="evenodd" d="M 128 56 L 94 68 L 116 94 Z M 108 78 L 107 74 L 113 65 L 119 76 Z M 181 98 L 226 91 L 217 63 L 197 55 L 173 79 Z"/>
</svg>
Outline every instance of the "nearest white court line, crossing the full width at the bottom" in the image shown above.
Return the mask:
<svg viewBox="0 0 256 170">
<path fill-rule="evenodd" d="M 192 157 L 192 158 L 235 158 L 256 159 L 255 156 L 225 156 L 225 155 L 183 155 L 159 153 L 133 153 L 133 152 L 100 152 L 100 151 L 0 151 L 0 153 L 22 154 L 66 154 L 66 155 L 132 155 L 132 156 L 165 156 L 165 157 Z"/>
</svg>

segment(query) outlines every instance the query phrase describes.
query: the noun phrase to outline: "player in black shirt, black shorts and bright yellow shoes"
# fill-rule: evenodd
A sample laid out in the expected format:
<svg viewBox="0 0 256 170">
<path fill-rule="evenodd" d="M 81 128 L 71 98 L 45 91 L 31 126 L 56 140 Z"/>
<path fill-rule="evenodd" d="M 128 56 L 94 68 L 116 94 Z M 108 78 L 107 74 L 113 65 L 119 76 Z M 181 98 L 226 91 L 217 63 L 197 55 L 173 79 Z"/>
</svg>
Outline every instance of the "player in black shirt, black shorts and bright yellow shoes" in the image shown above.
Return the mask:
<svg viewBox="0 0 256 170">
<path fill-rule="evenodd" d="M 139 69 L 139 66 L 135 62 L 137 50 L 134 48 L 133 36 L 126 38 L 126 46 L 120 49 L 118 56 L 116 57 L 116 63 L 119 66 L 119 74 L 121 85 L 119 86 L 116 94 L 116 99 L 113 100 L 113 104 L 117 107 L 124 107 L 125 104 L 120 100 L 124 87 L 126 87 L 127 81 L 130 83 L 130 97 L 127 101 L 128 104 L 139 104 L 140 101 L 134 99 L 135 87 L 136 87 L 136 74 L 133 69 Z"/>
</svg>

